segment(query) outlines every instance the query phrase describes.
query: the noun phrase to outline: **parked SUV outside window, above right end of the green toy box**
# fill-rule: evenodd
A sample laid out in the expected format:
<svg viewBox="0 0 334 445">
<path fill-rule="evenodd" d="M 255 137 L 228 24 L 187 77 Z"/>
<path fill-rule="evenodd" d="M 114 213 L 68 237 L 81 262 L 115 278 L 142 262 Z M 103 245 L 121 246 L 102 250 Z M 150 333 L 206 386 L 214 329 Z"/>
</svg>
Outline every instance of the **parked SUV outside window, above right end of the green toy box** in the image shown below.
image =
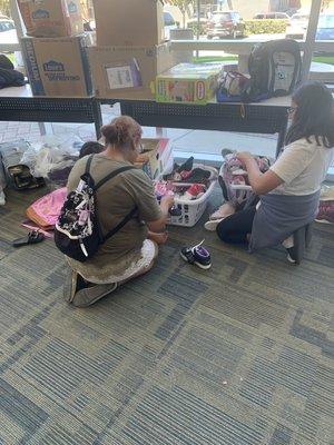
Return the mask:
<svg viewBox="0 0 334 445">
<path fill-rule="evenodd" d="M 214 12 L 207 22 L 207 38 L 243 37 L 245 23 L 236 11 Z"/>
</svg>

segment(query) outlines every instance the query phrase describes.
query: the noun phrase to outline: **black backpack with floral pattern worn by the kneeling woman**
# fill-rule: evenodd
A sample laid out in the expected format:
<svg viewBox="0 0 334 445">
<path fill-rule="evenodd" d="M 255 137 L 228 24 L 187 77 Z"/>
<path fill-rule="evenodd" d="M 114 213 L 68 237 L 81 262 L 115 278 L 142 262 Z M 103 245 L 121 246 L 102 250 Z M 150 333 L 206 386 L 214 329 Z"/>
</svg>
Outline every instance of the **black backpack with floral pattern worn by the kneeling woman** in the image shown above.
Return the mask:
<svg viewBox="0 0 334 445">
<path fill-rule="evenodd" d="M 97 190 L 117 175 L 136 167 L 121 167 L 95 185 L 90 175 L 92 157 L 94 155 L 88 158 L 86 171 L 77 189 L 67 196 L 55 228 L 55 243 L 58 249 L 80 263 L 91 258 L 99 246 L 117 234 L 137 212 L 134 208 L 116 227 L 102 236 L 98 218 Z"/>
</svg>

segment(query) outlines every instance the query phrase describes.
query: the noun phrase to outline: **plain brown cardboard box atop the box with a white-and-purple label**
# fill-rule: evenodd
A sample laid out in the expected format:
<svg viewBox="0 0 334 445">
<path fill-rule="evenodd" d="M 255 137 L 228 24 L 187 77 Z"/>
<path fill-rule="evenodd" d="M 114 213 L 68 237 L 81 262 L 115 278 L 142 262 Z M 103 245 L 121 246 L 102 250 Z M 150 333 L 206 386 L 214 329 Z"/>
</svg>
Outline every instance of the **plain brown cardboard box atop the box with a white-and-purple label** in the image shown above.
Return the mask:
<svg viewBox="0 0 334 445">
<path fill-rule="evenodd" d="M 165 41 L 161 0 L 94 0 L 97 44 L 151 47 Z"/>
</svg>

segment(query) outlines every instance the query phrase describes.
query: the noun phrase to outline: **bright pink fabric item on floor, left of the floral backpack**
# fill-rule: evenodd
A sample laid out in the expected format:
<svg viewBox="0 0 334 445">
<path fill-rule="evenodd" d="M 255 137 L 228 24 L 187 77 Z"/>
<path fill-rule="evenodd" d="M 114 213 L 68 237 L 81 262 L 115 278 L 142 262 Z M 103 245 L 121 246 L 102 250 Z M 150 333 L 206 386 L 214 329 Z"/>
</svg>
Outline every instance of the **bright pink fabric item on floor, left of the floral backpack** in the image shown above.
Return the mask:
<svg viewBox="0 0 334 445">
<path fill-rule="evenodd" d="M 41 228 L 53 228 L 67 197 L 67 188 L 59 188 L 28 207 L 26 215 Z"/>
</svg>

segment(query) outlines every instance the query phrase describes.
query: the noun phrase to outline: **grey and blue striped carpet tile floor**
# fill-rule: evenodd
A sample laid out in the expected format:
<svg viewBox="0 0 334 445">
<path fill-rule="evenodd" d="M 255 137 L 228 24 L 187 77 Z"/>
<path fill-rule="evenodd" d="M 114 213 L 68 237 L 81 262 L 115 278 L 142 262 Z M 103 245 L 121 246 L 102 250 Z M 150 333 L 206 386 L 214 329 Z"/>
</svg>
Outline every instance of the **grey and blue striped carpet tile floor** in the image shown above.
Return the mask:
<svg viewBox="0 0 334 445">
<path fill-rule="evenodd" d="M 13 249 L 33 194 L 0 208 L 0 444 L 334 444 L 334 229 L 294 267 L 170 229 L 155 269 L 89 309 L 52 241 Z M 213 268 L 179 258 L 206 237 Z"/>
</svg>

